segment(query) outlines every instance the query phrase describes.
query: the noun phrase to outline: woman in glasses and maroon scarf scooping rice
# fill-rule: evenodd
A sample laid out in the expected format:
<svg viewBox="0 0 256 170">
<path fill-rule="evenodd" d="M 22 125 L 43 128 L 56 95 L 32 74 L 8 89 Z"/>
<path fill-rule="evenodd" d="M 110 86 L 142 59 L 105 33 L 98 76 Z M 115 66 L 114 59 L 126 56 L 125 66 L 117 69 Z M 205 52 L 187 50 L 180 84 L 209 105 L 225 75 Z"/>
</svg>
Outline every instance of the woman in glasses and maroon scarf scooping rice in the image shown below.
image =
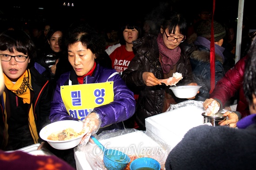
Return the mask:
<svg viewBox="0 0 256 170">
<path fill-rule="evenodd" d="M 159 34 L 147 34 L 133 41 L 135 57 L 123 71 L 122 78 L 132 91 L 139 93 L 135 121 L 140 130 L 146 130 L 145 118 L 165 112 L 170 104 L 185 100 L 175 98 L 170 86 L 158 79 L 169 78 L 179 72 L 183 78 L 177 85 L 196 85 L 187 56 L 189 49 L 180 47 L 186 39 L 186 27 L 185 18 L 173 13 L 163 20 Z"/>
</svg>

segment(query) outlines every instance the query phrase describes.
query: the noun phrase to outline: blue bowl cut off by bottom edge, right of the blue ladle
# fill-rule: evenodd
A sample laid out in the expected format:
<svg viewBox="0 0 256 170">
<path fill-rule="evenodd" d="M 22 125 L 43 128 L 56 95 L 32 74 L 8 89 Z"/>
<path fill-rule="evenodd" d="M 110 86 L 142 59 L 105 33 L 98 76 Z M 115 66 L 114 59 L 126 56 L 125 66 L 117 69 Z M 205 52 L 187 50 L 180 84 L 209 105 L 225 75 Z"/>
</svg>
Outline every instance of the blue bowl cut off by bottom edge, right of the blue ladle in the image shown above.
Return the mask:
<svg viewBox="0 0 256 170">
<path fill-rule="evenodd" d="M 151 168 L 152 170 L 160 170 L 160 163 L 151 157 L 140 157 L 130 164 L 130 170 L 138 170 L 139 168 Z"/>
</svg>

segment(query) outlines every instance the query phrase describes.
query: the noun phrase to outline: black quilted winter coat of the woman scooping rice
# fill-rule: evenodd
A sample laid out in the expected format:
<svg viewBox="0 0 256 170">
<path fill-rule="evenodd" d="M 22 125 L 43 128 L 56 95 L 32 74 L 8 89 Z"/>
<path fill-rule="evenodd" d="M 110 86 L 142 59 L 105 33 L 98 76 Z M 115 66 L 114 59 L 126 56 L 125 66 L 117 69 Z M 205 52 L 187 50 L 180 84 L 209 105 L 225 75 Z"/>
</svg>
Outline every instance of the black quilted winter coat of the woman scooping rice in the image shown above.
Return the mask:
<svg viewBox="0 0 256 170">
<path fill-rule="evenodd" d="M 157 35 L 146 35 L 141 39 L 133 41 L 135 57 L 130 62 L 128 69 L 122 72 L 122 78 L 128 87 L 135 94 L 139 94 L 136 104 L 135 121 L 142 130 L 145 130 L 145 118 L 163 112 L 166 92 L 168 92 L 177 103 L 184 101 L 184 99 L 179 101 L 178 98 L 175 98 L 169 86 L 146 86 L 143 81 L 143 72 L 152 72 L 158 79 L 164 78 L 162 66 L 159 61 L 160 54 L 156 38 Z M 174 66 L 174 69 L 171 70 L 171 72 L 182 73 L 183 78 L 177 85 L 187 85 L 194 82 L 189 57 L 184 53 L 184 49 L 182 48 L 181 58 Z"/>
</svg>

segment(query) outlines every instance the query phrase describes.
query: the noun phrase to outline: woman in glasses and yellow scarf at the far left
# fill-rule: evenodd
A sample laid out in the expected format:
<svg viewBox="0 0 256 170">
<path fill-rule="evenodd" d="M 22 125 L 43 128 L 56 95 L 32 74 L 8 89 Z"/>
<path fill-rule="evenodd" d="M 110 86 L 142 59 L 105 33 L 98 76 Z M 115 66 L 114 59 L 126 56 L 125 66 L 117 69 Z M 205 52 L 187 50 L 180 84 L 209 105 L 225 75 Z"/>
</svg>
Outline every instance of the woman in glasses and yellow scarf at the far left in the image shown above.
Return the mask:
<svg viewBox="0 0 256 170">
<path fill-rule="evenodd" d="M 37 71 L 35 55 L 36 46 L 24 31 L 15 29 L 0 34 L 5 84 L 0 96 L 1 150 L 41 143 L 39 132 L 49 123 L 52 85 Z"/>
</svg>

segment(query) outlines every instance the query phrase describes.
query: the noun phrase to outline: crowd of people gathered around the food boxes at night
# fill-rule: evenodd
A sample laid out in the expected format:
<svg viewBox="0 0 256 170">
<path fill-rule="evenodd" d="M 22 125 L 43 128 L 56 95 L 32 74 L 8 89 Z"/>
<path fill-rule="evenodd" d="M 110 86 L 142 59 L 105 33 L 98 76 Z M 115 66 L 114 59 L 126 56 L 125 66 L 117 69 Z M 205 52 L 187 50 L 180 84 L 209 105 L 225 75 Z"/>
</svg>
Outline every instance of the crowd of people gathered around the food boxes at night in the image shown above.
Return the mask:
<svg viewBox="0 0 256 170">
<path fill-rule="evenodd" d="M 226 143 L 230 144 L 230 150 L 238 147 L 240 143 L 231 144 L 232 140 L 244 136 L 241 144 L 248 147 L 232 152 L 232 157 L 246 149 L 248 151 L 242 154 L 243 161 L 248 163 L 248 168 L 256 167 L 252 159 L 246 159 L 249 155 L 256 157 L 256 148 L 252 146 L 255 135 L 246 134 L 255 132 L 255 33 L 248 34 L 247 52 L 235 64 L 229 28 L 224 23 L 212 21 L 206 11 L 201 11 L 200 15 L 206 18 L 197 20 L 192 32 L 188 32 L 189 26 L 182 13 L 175 11 L 164 16 L 159 26 L 154 26 L 149 20 L 143 22 L 145 25 L 136 20 L 126 20 L 116 29 L 118 39 L 112 36 L 112 40 L 111 36 L 83 20 L 74 21 L 66 28 L 45 23 L 41 28 L 33 26 L 30 31 L 19 28 L 4 30 L 0 33 L 0 60 L 5 85 L 0 88 L 0 151 L 4 154 L 4 151 L 40 143 L 39 149 L 47 147 L 61 158 L 54 161 L 64 160 L 61 163 L 68 163 L 68 168 L 72 169 L 76 167 L 74 148 L 51 148 L 39 135 L 45 125 L 61 120 L 83 121 L 83 127 L 88 130 L 79 144 L 83 147 L 91 135 L 105 130 L 135 128 L 146 131 L 146 118 L 161 114 L 170 105 L 185 100 L 203 101 L 205 110 L 212 103 L 228 110 L 236 104 L 235 99 L 236 108 L 224 113 L 229 119 L 220 127 L 213 129 L 202 125 L 185 135 L 169 153 L 166 169 L 209 167 L 202 159 L 207 153 L 198 148 L 199 139 L 194 138 L 200 136 L 200 140 L 211 143 L 214 139 L 209 139 L 206 134 L 221 138 L 227 133 L 231 137 L 222 139 L 224 145 L 218 145 L 218 150 L 225 150 Z M 212 23 L 214 37 L 211 34 Z M 159 27 L 159 30 L 150 31 L 152 26 Z M 190 36 L 194 34 L 189 41 L 188 33 Z M 212 39 L 215 47 L 214 83 L 211 82 Z M 228 44 L 232 48 L 228 48 Z M 183 77 L 177 86 L 202 86 L 196 96 L 177 98 L 169 86 L 159 81 L 172 77 L 175 72 Z M 213 84 L 215 88 L 211 92 Z M 86 98 L 95 98 L 97 89 L 106 90 L 100 92 L 104 102 L 81 102 L 79 108 L 82 111 L 79 110 L 78 114 L 77 108 L 70 103 L 73 96 L 69 94 L 76 92 L 75 96 L 83 97 L 85 93 Z M 225 126 L 227 124 L 229 126 Z M 198 164 L 199 159 L 187 159 L 196 158 L 191 148 L 198 153 L 201 150 L 202 163 Z M 218 155 L 222 154 L 216 152 L 214 156 Z M 234 168 L 242 166 L 233 160 L 224 163 Z M 216 164 L 216 169 L 221 169 L 221 165 Z"/>
</svg>

